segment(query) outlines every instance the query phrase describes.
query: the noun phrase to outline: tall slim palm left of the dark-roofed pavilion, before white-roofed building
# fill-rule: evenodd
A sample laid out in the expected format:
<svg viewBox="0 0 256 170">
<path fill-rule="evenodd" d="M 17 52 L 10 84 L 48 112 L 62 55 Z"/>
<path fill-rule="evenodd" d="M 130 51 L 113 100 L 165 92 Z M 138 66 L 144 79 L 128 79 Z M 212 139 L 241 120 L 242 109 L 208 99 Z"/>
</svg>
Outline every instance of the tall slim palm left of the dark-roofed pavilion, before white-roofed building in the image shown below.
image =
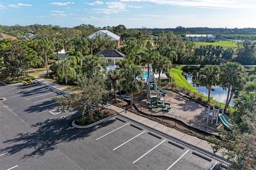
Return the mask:
<svg viewBox="0 0 256 170">
<path fill-rule="evenodd" d="M 88 53 L 90 51 L 90 49 L 88 48 L 88 39 L 87 38 L 74 38 L 73 39 L 74 42 L 74 48 L 76 49 L 75 51 L 79 51 L 80 52 L 80 65 L 82 67 L 82 52 L 86 52 Z"/>
</svg>

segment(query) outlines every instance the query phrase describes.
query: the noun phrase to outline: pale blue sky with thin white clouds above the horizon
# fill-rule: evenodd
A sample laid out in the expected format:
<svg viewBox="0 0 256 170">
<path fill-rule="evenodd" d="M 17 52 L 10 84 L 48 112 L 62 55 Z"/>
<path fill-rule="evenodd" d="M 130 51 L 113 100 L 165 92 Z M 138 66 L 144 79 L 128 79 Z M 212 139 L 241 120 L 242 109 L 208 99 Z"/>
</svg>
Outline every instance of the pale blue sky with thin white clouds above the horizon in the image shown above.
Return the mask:
<svg viewBox="0 0 256 170">
<path fill-rule="evenodd" d="M 0 25 L 256 28 L 256 0 L 0 0 Z"/>
</svg>

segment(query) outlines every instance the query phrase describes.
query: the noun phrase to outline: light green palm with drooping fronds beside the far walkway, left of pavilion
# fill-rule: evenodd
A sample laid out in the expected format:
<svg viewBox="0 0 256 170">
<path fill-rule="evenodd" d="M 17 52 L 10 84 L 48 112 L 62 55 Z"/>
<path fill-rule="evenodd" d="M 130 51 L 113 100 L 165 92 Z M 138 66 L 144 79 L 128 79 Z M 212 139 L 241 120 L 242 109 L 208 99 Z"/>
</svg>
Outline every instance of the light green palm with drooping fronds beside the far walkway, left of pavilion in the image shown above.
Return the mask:
<svg viewBox="0 0 256 170">
<path fill-rule="evenodd" d="M 76 71 L 74 67 L 72 67 L 75 65 L 75 62 L 72 59 L 72 57 L 68 57 L 60 60 L 58 64 L 59 64 L 59 67 L 58 67 L 57 73 L 61 79 L 65 77 L 65 84 L 68 84 L 68 75 L 71 78 L 76 77 Z"/>
</svg>

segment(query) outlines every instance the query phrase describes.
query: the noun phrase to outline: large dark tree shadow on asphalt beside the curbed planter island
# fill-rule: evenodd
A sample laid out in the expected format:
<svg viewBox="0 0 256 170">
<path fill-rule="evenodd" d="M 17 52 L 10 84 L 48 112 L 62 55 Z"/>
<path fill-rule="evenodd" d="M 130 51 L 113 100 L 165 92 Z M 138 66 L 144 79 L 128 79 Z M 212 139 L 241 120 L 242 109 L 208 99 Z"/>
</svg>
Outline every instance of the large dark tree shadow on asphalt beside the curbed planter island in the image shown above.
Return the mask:
<svg viewBox="0 0 256 170">
<path fill-rule="evenodd" d="M 57 149 L 57 144 L 61 142 L 70 142 L 90 136 L 90 133 L 98 127 L 72 127 L 71 123 L 78 115 L 70 115 L 66 119 L 47 119 L 38 122 L 31 126 L 33 129 L 36 129 L 33 132 L 19 133 L 14 138 L 5 140 L 3 143 L 8 143 L 9 146 L 0 149 L 0 153 L 8 152 L 8 154 L 15 154 L 22 150 L 26 150 L 26 152 L 32 150 L 32 152 L 24 154 L 21 159 L 34 156 L 39 157 L 50 150 Z M 100 127 L 112 124 L 114 121 L 115 119 L 110 119 L 100 124 Z"/>
</svg>

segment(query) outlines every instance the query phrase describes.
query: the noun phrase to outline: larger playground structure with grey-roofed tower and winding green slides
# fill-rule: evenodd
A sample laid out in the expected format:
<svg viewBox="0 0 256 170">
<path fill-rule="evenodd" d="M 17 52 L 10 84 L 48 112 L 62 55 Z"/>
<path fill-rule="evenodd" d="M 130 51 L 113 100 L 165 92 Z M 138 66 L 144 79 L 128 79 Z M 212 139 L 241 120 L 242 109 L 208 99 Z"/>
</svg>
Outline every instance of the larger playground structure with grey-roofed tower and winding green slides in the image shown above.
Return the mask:
<svg viewBox="0 0 256 170">
<path fill-rule="evenodd" d="M 154 81 L 152 81 L 154 80 Z M 157 86 L 157 81 L 154 75 L 151 75 L 147 79 L 147 98 L 149 101 L 150 108 L 162 108 L 164 112 L 168 112 L 171 109 L 171 104 L 162 100 L 162 94 L 165 95 L 166 90 L 161 89 Z"/>
</svg>

